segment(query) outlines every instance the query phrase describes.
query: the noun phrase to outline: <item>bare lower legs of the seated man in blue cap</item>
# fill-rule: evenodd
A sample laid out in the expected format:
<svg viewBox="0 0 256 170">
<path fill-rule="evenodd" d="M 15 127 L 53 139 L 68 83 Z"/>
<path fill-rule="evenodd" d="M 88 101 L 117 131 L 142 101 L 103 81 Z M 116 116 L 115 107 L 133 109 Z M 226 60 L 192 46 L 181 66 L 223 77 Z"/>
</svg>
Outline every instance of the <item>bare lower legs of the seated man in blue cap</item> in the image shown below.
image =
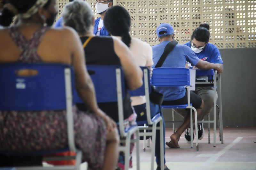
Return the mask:
<svg viewBox="0 0 256 170">
<path fill-rule="evenodd" d="M 196 109 L 198 117 L 202 114 L 203 108 L 204 108 L 204 101 L 202 100 L 201 106 Z M 179 148 L 180 146 L 179 146 L 178 142 L 180 140 L 180 136 L 190 125 L 190 115 L 189 115 L 189 112 L 185 109 L 175 109 L 175 112 L 179 113 L 180 115 L 184 115 L 184 112 L 187 112 L 184 122 L 180 125 L 180 127 L 177 129 L 177 131 L 171 135 L 171 141 L 169 142 L 169 143 L 171 143 L 171 144 L 169 144 L 170 146 L 174 146 L 174 148 Z M 195 122 L 194 111 L 193 111 L 193 122 Z"/>
</svg>

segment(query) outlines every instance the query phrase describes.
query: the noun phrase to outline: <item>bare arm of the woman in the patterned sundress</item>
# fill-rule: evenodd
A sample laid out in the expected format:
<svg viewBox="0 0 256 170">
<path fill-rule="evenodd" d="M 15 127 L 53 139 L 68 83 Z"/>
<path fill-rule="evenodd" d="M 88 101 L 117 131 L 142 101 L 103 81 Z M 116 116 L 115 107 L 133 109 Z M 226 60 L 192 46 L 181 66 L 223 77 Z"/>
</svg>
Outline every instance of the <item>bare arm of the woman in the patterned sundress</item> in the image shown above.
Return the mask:
<svg viewBox="0 0 256 170">
<path fill-rule="evenodd" d="M 72 56 L 71 64 L 75 70 L 76 90 L 78 95 L 84 101 L 87 109 L 100 116 L 106 122 L 108 130 L 112 130 L 113 127 L 116 127 L 115 122 L 102 112 L 97 105 L 94 86 L 85 66 L 84 50 L 79 36 L 75 30 L 68 30 L 70 35 L 68 44 L 70 45 Z"/>
</svg>

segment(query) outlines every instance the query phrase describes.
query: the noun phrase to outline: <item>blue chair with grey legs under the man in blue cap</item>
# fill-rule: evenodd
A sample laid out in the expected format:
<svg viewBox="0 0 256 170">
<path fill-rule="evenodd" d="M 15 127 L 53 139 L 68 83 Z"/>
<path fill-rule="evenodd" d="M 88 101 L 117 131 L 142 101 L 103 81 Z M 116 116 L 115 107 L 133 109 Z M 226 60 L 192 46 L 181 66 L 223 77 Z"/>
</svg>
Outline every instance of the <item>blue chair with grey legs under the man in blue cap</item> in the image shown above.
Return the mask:
<svg viewBox="0 0 256 170">
<path fill-rule="evenodd" d="M 190 78 L 189 78 L 189 69 L 179 68 L 179 67 L 161 67 L 154 68 L 151 78 L 151 85 L 157 87 L 175 87 L 175 86 L 186 86 L 188 90 L 188 103 L 184 105 L 172 105 L 172 106 L 161 106 L 162 108 L 172 108 L 172 109 L 190 109 L 190 130 L 191 141 L 193 141 L 193 122 L 192 122 L 192 110 L 195 113 L 195 124 L 197 124 L 197 113 L 195 107 L 190 103 Z M 191 148 L 193 148 L 193 142 L 191 142 Z M 196 126 L 196 151 L 199 150 L 198 146 L 198 134 Z"/>
</svg>

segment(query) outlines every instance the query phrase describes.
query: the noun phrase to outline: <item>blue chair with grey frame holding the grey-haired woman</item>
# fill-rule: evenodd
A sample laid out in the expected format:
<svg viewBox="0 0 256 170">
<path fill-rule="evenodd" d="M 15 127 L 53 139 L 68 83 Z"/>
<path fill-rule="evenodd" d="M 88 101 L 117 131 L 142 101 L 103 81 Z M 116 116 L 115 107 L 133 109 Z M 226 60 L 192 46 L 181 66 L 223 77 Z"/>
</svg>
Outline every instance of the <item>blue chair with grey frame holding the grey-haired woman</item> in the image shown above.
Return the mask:
<svg viewBox="0 0 256 170">
<path fill-rule="evenodd" d="M 125 146 L 119 147 L 119 150 L 125 154 L 125 170 L 129 169 L 130 144 L 134 143 L 134 140 L 131 141 L 131 136 L 135 133 L 137 170 L 139 170 L 139 128 L 137 125 L 128 129 L 124 128 L 123 97 L 125 84 L 122 67 L 117 65 L 86 65 L 86 67 L 95 87 L 97 102 L 117 102 L 119 133 L 121 137 L 125 138 L 125 140 L 120 141 L 120 143 L 125 143 Z"/>
</svg>

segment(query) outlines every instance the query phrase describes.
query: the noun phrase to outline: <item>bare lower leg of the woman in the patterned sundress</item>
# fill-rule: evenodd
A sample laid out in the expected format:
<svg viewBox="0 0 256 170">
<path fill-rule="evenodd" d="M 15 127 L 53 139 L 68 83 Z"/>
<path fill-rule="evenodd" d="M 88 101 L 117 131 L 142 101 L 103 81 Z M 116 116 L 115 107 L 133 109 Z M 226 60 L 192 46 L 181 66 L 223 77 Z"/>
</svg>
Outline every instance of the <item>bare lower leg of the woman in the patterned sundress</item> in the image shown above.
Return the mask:
<svg viewBox="0 0 256 170">
<path fill-rule="evenodd" d="M 116 169 L 117 159 L 119 156 L 118 151 L 119 135 L 117 129 L 109 132 L 107 131 L 107 146 L 104 156 L 103 170 Z"/>
</svg>

